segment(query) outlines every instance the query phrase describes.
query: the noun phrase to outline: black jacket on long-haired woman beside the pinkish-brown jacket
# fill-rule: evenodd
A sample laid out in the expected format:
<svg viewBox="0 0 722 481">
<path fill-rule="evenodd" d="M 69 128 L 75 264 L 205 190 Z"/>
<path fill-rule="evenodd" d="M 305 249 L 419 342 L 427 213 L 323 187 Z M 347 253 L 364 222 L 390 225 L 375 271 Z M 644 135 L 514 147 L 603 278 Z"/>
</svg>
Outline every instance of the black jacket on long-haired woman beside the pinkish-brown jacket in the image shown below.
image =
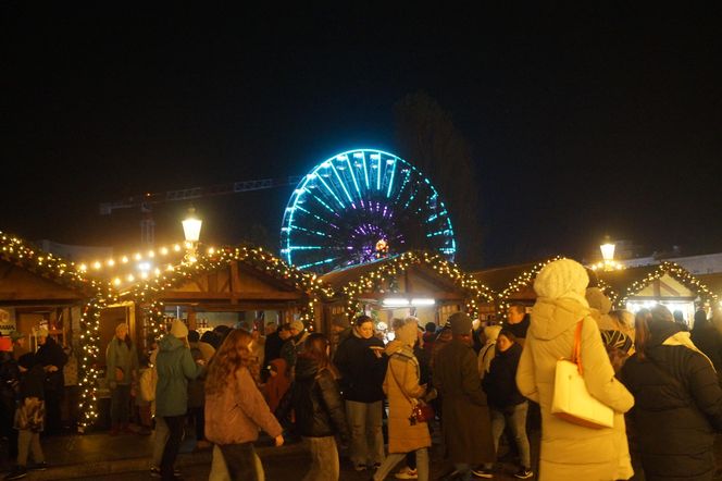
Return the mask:
<svg viewBox="0 0 722 481">
<path fill-rule="evenodd" d="M 349 439 L 344 399 L 334 375 L 303 355 L 296 361 L 296 381 L 278 408 L 278 418 L 286 418 L 291 407 L 300 435 L 326 437 L 339 433 L 341 439 Z"/>
</svg>

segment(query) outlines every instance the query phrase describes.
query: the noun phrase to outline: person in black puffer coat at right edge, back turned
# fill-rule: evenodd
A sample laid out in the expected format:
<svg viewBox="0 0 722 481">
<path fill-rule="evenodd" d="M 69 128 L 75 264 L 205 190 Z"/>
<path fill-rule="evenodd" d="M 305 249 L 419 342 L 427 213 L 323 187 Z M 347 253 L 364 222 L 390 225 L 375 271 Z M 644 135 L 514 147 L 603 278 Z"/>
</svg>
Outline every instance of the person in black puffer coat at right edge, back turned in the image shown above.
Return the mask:
<svg viewBox="0 0 722 481">
<path fill-rule="evenodd" d="M 630 435 L 645 479 L 713 479 L 722 388 L 712 362 L 663 306 L 649 322 L 637 317 L 635 344 L 621 380 L 635 398 Z"/>
</svg>

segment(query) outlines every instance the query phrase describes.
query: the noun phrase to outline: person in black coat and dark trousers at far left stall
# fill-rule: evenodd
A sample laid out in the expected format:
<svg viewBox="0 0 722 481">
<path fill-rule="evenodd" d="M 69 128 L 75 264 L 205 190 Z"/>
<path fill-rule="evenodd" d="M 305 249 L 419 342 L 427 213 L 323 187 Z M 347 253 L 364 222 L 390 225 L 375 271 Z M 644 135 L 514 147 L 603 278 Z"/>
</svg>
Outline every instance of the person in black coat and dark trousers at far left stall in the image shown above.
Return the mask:
<svg viewBox="0 0 722 481">
<path fill-rule="evenodd" d="M 67 362 L 67 355 L 54 338 L 48 335 L 47 329 L 38 331 L 36 353 L 37 361 L 46 371 L 45 395 L 47 408 L 47 431 L 49 434 L 59 433 L 62 428 L 61 410 L 65 393 L 65 378 L 63 367 Z"/>
</svg>

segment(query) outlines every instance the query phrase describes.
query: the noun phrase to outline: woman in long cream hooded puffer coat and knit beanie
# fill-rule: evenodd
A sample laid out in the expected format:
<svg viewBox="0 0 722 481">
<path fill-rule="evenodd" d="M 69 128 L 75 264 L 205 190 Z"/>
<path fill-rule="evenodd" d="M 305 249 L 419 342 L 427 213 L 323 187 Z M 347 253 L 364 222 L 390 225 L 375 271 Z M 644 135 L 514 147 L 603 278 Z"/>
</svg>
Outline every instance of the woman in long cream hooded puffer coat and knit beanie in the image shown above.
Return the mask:
<svg viewBox="0 0 722 481">
<path fill-rule="evenodd" d="M 633 476 L 624 412 L 634 405 L 630 392 L 614 379 L 599 328 L 589 316 L 584 292 L 588 278 L 570 259 L 547 264 L 537 274 L 537 300 L 516 371 L 519 391 L 542 408 L 539 480 L 619 480 Z M 592 429 L 551 414 L 557 361 L 572 354 L 582 321 L 581 357 L 589 393 L 615 411 L 614 427 Z"/>
</svg>

